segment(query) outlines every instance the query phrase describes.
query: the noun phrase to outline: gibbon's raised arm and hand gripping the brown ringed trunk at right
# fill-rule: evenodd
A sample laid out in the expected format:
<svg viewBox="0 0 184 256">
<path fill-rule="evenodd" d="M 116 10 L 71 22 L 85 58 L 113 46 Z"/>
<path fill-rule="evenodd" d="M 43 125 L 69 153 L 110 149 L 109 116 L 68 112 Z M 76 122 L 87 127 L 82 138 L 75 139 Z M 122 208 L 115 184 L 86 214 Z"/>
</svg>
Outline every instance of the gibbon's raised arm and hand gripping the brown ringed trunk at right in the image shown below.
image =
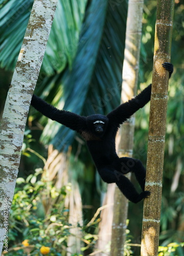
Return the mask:
<svg viewBox="0 0 184 256">
<path fill-rule="evenodd" d="M 173 73 L 173 65 L 169 62 L 164 62 L 162 64 L 163 68 L 169 71 L 169 78 Z M 107 118 L 117 124 L 122 124 L 131 115 L 133 115 L 137 110 L 143 108 L 151 98 L 151 84 L 145 88 L 139 95 L 127 102 L 118 106 L 117 109 L 113 110 L 107 115 Z"/>
</svg>

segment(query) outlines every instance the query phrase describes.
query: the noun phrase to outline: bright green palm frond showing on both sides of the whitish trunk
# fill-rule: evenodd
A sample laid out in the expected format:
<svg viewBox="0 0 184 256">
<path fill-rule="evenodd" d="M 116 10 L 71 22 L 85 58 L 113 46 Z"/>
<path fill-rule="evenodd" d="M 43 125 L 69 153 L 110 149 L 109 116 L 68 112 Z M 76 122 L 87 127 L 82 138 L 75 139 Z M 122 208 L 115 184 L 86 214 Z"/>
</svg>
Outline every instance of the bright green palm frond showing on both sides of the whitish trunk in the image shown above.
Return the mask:
<svg viewBox="0 0 184 256">
<path fill-rule="evenodd" d="M 60 73 L 75 57 L 84 17 L 85 1 L 59 0 L 48 40 L 41 73 Z M 28 24 L 32 0 L 10 0 L 2 3 L 0 14 L 0 67 L 14 70 Z M 76 8 L 77 6 L 77 8 Z M 75 10 L 75 15 L 74 15 Z"/>
</svg>

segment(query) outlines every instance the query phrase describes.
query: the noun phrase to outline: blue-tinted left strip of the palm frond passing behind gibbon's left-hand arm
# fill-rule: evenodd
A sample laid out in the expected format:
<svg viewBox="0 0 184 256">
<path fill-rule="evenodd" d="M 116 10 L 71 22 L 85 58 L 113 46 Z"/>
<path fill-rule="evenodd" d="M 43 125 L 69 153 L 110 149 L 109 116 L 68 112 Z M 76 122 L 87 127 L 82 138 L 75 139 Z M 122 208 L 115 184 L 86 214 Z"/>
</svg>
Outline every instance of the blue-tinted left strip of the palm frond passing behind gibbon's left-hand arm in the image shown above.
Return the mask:
<svg viewBox="0 0 184 256">
<path fill-rule="evenodd" d="M 102 2 L 96 0 L 91 2 L 85 16 L 81 39 L 72 70 L 67 69 L 65 74 L 60 76 L 61 84 L 64 84 L 64 109 L 68 111 L 74 111 L 75 109 L 75 113 L 81 114 L 82 112 L 90 80 L 96 65 L 105 23 L 107 4 L 108 1 Z M 48 129 L 47 126 L 46 129 Z M 58 136 L 62 138 L 60 143 Z M 47 143 L 51 137 L 43 131 L 41 139 L 44 143 Z M 67 150 L 67 146 L 72 143 L 73 139 L 74 132 L 61 126 L 52 143 L 57 149 L 63 150 L 64 140 L 64 146 L 66 146 L 65 149 Z"/>
</svg>

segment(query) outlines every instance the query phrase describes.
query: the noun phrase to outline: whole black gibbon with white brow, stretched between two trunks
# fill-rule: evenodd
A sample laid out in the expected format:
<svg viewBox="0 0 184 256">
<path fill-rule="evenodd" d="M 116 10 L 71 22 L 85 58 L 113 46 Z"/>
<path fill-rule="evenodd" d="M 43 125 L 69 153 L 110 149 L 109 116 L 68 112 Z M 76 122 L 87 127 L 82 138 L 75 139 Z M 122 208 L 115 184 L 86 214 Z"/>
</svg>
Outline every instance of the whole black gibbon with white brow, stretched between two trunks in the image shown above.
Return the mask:
<svg viewBox="0 0 184 256">
<path fill-rule="evenodd" d="M 170 77 L 173 72 L 173 65 L 165 62 L 163 67 L 169 71 Z M 84 117 L 58 110 L 35 95 L 33 95 L 31 104 L 43 115 L 80 133 L 87 142 L 89 152 L 102 180 L 107 183 L 116 183 L 128 200 L 137 203 L 150 195 L 150 191 L 144 191 L 146 169 L 140 160 L 118 157 L 115 137 L 120 124 L 137 110 L 143 108 L 149 102 L 150 97 L 151 84 L 135 98 L 121 104 L 107 116 L 97 114 Z M 135 174 L 143 190 L 141 194 L 137 193 L 130 180 L 124 176 L 129 172 Z"/>
</svg>

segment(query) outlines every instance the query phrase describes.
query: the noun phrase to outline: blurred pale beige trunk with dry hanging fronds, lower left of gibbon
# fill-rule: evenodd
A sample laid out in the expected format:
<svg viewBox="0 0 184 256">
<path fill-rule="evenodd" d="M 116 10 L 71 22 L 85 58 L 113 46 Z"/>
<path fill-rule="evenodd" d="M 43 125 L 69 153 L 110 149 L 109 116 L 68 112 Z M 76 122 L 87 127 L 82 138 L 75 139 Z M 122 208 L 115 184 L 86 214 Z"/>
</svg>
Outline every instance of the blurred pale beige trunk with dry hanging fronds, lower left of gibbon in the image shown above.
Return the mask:
<svg viewBox="0 0 184 256">
<path fill-rule="evenodd" d="M 71 150 L 71 148 L 70 148 Z M 82 199 L 80 195 L 79 185 L 73 170 L 68 164 L 68 158 L 71 155 L 71 151 L 67 154 L 63 152 L 58 152 L 54 150 L 53 145 L 49 145 L 48 159 L 44 166 L 43 176 L 47 177 L 49 181 L 56 180 L 55 187 L 60 189 L 62 186 L 72 184 L 72 189 L 67 193 L 64 199 L 64 207 L 69 209 L 68 212 L 68 222 L 71 224 L 72 235 L 67 236 L 67 255 L 73 255 L 75 253 L 81 252 L 82 243 L 82 232 L 81 228 L 78 227 L 83 225 L 82 220 Z M 53 181 L 54 182 L 54 181 Z M 45 194 L 45 198 L 42 198 L 42 203 L 46 214 L 49 214 L 56 203 L 58 203 L 62 198 L 59 195 L 55 199 L 51 198 L 50 194 Z"/>
</svg>

